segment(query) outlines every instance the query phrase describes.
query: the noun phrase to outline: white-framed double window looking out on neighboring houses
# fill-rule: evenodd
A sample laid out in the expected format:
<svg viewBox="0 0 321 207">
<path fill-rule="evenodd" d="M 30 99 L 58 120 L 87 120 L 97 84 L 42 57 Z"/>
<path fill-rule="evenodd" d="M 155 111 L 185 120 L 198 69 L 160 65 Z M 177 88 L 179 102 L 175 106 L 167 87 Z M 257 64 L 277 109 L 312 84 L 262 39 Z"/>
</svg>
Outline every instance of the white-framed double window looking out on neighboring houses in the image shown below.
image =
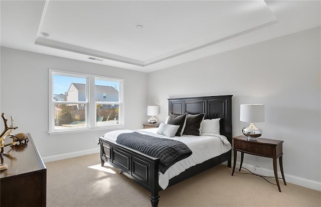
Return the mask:
<svg viewBox="0 0 321 207">
<path fill-rule="evenodd" d="M 123 80 L 50 69 L 49 133 L 123 125 Z"/>
</svg>

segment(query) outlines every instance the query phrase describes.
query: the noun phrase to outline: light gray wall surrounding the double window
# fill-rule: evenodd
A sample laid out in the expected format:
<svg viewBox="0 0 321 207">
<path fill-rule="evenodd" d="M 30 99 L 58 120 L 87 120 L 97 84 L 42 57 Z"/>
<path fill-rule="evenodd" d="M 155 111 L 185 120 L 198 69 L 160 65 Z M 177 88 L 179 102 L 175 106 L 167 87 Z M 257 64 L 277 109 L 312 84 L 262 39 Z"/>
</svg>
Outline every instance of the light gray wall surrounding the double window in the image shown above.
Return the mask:
<svg viewBox="0 0 321 207">
<path fill-rule="evenodd" d="M 2 47 L 1 112 L 9 120 L 10 116 L 14 117 L 19 127 L 15 133 L 31 133 L 42 157 L 56 160 L 98 152 L 95 137 L 107 132 L 105 129 L 56 135 L 47 133 L 49 68 L 123 78 L 125 128 L 142 128 L 146 118 L 146 73 Z M 0 125 L 2 131 L 3 121 Z"/>
</svg>

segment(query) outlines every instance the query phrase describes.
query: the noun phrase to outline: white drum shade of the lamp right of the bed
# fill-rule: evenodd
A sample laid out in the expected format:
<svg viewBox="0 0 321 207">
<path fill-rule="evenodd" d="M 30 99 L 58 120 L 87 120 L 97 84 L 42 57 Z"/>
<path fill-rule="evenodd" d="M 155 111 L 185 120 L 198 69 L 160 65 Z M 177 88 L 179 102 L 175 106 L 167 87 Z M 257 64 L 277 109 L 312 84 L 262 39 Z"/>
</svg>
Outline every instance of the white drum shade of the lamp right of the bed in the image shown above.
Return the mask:
<svg viewBox="0 0 321 207">
<path fill-rule="evenodd" d="M 264 104 L 241 104 L 240 121 L 264 122 Z"/>
</svg>

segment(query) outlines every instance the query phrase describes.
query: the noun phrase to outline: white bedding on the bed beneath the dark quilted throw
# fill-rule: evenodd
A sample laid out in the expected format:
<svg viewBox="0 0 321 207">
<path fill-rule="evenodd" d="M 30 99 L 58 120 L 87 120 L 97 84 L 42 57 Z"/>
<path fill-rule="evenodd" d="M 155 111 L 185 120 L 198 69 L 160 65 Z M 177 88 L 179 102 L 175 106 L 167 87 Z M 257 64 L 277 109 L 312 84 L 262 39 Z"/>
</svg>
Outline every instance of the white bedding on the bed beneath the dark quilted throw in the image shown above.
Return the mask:
<svg viewBox="0 0 321 207">
<path fill-rule="evenodd" d="M 201 136 L 185 135 L 173 138 L 164 135 L 156 134 L 157 128 L 135 130 L 139 133 L 148 134 L 151 136 L 175 139 L 185 143 L 191 150 L 192 155 L 176 162 L 164 174 L 158 171 L 158 184 L 163 189 L 169 185 L 169 180 L 176 175 L 184 172 L 186 169 L 202 163 L 208 159 L 219 156 L 229 151 L 232 146 L 227 138 L 218 134 L 205 134 Z M 130 133 L 133 130 L 116 130 L 107 132 L 103 135 L 104 138 L 116 141 L 117 136 L 121 133 Z"/>
</svg>

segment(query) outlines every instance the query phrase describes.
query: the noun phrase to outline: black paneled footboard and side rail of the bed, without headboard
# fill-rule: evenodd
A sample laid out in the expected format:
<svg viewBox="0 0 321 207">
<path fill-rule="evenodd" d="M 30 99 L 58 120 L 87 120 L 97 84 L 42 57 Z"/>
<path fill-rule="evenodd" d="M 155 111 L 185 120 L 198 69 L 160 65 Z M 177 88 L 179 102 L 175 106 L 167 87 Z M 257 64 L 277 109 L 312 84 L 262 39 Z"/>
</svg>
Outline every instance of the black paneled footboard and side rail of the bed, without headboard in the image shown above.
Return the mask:
<svg viewBox="0 0 321 207">
<path fill-rule="evenodd" d="M 156 207 L 159 201 L 158 192 L 162 190 L 158 184 L 159 158 L 150 157 L 139 151 L 119 145 L 116 142 L 106 140 L 103 137 L 99 137 L 99 144 L 101 166 L 104 166 L 104 163 L 108 162 L 124 175 L 147 189 L 150 192 L 149 197 L 151 206 Z M 231 161 L 231 150 L 185 170 L 181 174 L 173 177 L 170 180 L 169 186 L 181 182 L 224 161 Z"/>
</svg>

